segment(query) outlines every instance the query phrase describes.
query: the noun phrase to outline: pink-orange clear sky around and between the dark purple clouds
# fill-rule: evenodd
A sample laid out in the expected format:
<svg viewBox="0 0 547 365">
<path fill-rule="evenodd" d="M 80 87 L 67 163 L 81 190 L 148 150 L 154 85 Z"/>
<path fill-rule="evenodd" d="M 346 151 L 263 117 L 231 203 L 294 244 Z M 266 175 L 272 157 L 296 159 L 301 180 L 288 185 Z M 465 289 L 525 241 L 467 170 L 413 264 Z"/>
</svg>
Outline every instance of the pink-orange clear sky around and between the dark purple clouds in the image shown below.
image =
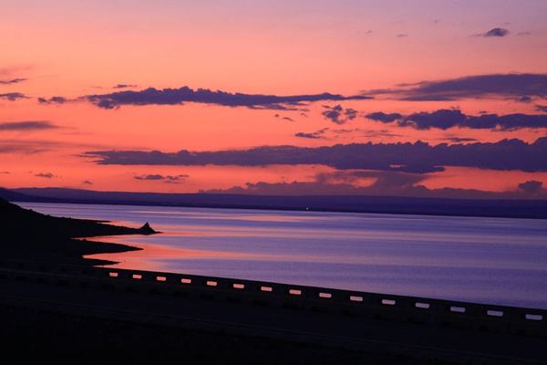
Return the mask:
<svg viewBox="0 0 547 365">
<path fill-rule="evenodd" d="M 536 107 L 547 105 L 545 94 L 533 95 L 530 102 L 507 95 L 406 101 L 394 94 L 371 94 L 424 80 L 544 75 L 543 1 L 110 3 L 3 5 L 0 96 L 21 93 L 26 98 L 0 97 L 0 186 L 190 193 L 245 183 L 313 182 L 317 173 L 335 171 L 298 164 L 99 165 L 81 156 L 86 151 L 219 151 L 418 140 L 435 145 L 453 137 L 532 143 L 547 135 L 545 128 L 418 130 L 365 117 L 375 111 L 409 115 L 443 109 L 470 116 L 484 110 L 544 115 Z M 481 36 L 494 28 L 509 33 Z M 197 102 L 106 110 L 85 99 L 121 90 L 113 89 L 117 84 L 132 85 L 129 89 L 136 91 L 188 86 L 277 96 L 365 94 L 374 99 L 311 101 L 297 110 Z M 71 101 L 37 101 L 54 96 Z M 356 110 L 356 118 L 343 125 L 326 119 L 324 105 L 338 104 Z M 3 123 L 23 121 L 46 121 L 56 128 L 2 129 Z M 322 138 L 295 136 L 325 128 Z M 333 131 L 342 129 L 346 132 Z M 135 178 L 146 174 L 184 177 L 172 183 Z M 421 184 L 504 192 L 531 180 L 547 185 L 547 172 L 450 166 L 428 173 Z"/>
</svg>

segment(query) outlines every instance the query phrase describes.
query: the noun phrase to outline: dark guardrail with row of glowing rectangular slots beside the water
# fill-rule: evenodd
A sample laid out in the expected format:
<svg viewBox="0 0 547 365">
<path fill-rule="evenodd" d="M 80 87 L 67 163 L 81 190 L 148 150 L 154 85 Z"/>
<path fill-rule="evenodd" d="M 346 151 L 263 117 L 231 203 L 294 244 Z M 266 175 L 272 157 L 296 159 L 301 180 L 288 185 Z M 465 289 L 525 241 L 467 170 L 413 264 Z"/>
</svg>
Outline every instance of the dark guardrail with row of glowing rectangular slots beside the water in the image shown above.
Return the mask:
<svg viewBox="0 0 547 365">
<path fill-rule="evenodd" d="M 348 316 L 547 337 L 547 310 L 215 276 L 0 260 L 0 275 L 57 285 L 200 297 Z"/>
</svg>

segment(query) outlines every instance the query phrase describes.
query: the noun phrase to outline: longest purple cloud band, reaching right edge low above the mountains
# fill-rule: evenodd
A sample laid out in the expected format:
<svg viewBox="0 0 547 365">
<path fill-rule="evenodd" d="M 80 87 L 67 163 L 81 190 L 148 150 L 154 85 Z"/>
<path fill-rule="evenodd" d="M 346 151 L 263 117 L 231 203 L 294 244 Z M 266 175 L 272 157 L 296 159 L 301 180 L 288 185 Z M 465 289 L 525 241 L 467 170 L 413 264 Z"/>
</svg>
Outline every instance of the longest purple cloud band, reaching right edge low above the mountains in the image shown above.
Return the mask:
<svg viewBox="0 0 547 365">
<path fill-rule="evenodd" d="M 265 146 L 229 151 L 89 151 L 98 164 L 114 165 L 238 165 L 322 164 L 337 170 L 367 169 L 400 172 L 439 172 L 442 166 L 547 172 L 547 137 L 533 143 L 447 144 L 352 143 L 316 148 Z"/>
</svg>

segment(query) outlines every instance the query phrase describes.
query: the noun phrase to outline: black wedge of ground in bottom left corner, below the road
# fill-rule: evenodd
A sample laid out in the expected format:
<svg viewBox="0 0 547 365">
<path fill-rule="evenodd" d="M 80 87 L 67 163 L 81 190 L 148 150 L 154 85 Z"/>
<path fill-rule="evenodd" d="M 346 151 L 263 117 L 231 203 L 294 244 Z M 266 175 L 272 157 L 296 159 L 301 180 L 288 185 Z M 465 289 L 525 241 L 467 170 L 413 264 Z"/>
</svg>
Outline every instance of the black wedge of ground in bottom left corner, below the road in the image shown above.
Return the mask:
<svg viewBox="0 0 547 365">
<path fill-rule="evenodd" d="M 448 364 L 224 330 L 177 328 L 58 311 L 0 307 L 4 364 Z M 34 361 L 33 361 L 34 362 Z"/>
</svg>

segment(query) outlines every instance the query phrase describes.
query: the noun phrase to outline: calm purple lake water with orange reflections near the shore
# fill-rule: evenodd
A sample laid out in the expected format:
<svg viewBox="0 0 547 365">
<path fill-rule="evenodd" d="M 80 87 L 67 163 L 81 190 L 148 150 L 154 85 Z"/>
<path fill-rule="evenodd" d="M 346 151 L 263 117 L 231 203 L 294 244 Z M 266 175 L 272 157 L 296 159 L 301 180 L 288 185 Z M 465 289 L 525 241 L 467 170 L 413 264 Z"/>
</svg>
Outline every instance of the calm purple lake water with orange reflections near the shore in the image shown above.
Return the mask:
<svg viewBox="0 0 547 365">
<path fill-rule="evenodd" d="M 144 248 L 93 255 L 119 267 L 547 308 L 542 220 L 22 205 L 163 232 L 101 238 Z"/>
</svg>

